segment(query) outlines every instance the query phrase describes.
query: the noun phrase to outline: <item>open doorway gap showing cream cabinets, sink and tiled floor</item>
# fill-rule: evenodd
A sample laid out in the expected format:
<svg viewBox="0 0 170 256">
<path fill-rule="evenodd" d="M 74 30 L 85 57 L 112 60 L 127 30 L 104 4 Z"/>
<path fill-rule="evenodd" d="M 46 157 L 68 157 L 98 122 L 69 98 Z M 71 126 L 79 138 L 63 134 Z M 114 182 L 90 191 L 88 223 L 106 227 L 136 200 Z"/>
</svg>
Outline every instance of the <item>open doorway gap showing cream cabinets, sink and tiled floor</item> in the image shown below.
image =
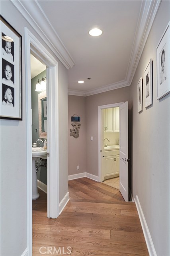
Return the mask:
<svg viewBox="0 0 170 256">
<path fill-rule="evenodd" d="M 102 182 L 119 190 L 119 107 L 102 109 Z"/>
</svg>

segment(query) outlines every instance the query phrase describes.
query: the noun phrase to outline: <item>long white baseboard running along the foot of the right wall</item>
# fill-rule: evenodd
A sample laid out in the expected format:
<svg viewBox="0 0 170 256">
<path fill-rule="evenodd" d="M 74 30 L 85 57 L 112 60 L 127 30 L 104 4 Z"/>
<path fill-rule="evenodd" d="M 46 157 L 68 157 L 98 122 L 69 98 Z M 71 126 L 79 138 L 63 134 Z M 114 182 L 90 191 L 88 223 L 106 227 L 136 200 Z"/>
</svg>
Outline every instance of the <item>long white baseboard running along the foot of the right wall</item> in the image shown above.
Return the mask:
<svg viewBox="0 0 170 256">
<path fill-rule="evenodd" d="M 139 214 L 139 218 L 140 218 L 140 221 L 141 221 L 141 226 L 142 226 L 142 229 L 143 229 L 143 234 L 145 236 L 145 241 L 146 241 L 146 244 L 147 244 L 149 255 L 150 256 L 156 256 L 156 251 L 155 251 L 155 248 L 154 248 L 154 244 L 152 242 L 152 238 L 151 238 L 151 235 L 150 235 L 150 232 L 149 232 L 149 228 L 147 226 L 147 222 L 145 220 L 145 216 L 143 214 L 143 210 L 141 208 L 141 204 L 139 202 L 138 196 L 136 196 L 136 198 L 134 198 L 134 201 L 135 201 L 137 211 L 138 211 L 138 214 Z"/>
</svg>

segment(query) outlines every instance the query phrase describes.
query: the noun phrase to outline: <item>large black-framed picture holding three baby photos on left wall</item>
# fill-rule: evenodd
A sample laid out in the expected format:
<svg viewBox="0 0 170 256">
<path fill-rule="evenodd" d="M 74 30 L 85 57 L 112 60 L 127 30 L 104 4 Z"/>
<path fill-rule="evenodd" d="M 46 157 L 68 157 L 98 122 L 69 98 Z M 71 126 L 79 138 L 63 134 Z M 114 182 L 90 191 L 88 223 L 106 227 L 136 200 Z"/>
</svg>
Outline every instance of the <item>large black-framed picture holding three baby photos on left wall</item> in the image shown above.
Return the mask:
<svg viewBox="0 0 170 256">
<path fill-rule="evenodd" d="M 22 37 L 0 16 L 0 118 L 22 120 Z"/>
</svg>

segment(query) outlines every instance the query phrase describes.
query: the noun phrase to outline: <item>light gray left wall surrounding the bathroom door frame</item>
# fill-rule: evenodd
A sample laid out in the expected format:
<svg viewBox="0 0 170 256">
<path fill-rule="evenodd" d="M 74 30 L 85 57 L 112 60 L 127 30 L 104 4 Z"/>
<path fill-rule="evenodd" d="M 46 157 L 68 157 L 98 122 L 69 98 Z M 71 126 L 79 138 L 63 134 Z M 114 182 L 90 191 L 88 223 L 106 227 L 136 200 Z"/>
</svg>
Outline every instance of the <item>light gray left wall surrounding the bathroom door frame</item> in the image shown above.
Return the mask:
<svg viewBox="0 0 170 256">
<path fill-rule="evenodd" d="M 33 27 L 21 16 L 10 1 L 0 1 L 1 15 L 22 36 L 23 120 L 0 120 L 0 254 L 22 255 L 27 248 L 27 151 L 25 102 L 25 32 L 27 27 L 45 48 L 57 59 Z M 17 18 L 16 18 L 17 17 Z M 27 60 L 26 60 L 27 61 Z M 67 121 L 67 70 L 58 60 L 59 67 L 59 117 L 66 118 L 59 124 L 63 138 L 59 149 L 59 198 L 68 192 L 68 121 Z M 62 88 L 60 88 L 62 87 Z M 60 113 L 62 111 L 62 114 Z M 64 128 L 63 128 L 64 127 Z M 30 143 L 32 143 L 30 141 Z M 64 156 L 64 158 L 63 158 Z"/>
</svg>

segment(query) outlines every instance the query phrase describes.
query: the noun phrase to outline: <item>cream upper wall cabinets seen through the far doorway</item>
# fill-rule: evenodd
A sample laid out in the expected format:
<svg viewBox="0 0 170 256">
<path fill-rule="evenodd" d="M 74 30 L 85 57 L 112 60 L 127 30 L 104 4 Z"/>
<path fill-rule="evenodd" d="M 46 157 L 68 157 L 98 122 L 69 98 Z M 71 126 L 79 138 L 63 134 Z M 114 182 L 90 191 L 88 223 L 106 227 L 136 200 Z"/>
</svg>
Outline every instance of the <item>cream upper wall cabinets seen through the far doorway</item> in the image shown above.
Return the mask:
<svg viewBox="0 0 170 256">
<path fill-rule="evenodd" d="M 105 109 L 104 132 L 119 132 L 119 107 Z"/>
</svg>

